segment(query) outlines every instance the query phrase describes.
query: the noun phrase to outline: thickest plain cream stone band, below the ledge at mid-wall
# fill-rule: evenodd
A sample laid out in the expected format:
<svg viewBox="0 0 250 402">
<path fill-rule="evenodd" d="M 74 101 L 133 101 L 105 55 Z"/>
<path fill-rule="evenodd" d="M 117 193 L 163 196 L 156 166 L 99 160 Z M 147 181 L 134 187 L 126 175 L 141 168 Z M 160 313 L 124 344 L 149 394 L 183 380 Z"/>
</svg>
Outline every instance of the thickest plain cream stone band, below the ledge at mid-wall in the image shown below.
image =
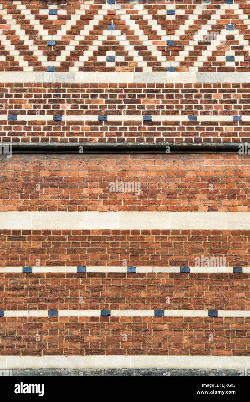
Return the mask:
<svg viewBox="0 0 250 402">
<path fill-rule="evenodd" d="M 249 212 L 0 212 L 0 229 L 248 230 L 249 227 Z"/>
</svg>

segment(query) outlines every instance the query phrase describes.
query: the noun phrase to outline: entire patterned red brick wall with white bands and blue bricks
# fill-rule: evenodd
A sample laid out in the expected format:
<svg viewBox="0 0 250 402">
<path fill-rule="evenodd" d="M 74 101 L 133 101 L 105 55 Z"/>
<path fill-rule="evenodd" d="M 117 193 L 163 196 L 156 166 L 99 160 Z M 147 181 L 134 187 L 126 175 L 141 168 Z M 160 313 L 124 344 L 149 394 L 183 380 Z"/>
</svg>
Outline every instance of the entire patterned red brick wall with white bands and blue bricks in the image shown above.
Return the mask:
<svg viewBox="0 0 250 402">
<path fill-rule="evenodd" d="M 2 367 L 249 367 L 250 3 L 131 3 L 0 2 Z"/>
</svg>

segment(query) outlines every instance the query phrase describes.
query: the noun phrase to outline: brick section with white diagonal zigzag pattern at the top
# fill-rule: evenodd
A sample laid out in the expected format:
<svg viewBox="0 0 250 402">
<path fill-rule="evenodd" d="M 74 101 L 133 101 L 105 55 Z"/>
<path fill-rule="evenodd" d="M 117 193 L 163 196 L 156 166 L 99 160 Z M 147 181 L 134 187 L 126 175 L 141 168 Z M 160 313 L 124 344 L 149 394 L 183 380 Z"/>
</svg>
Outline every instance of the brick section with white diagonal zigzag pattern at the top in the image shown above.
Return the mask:
<svg viewBox="0 0 250 402">
<path fill-rule="evenodd" d="M 247 0 L 150 0 L 139 7 L 129 0 L 65 3 L 1 4 L 2 71 L 46 71 L 47 66 L 61 72 L 250 71 Z M 49 15 L 49 8 L 56 15 Z M 213 50 L 217 37 L 219 47 Z M 10 45 L 18 54 L 12 55 Z"/>
</svg>

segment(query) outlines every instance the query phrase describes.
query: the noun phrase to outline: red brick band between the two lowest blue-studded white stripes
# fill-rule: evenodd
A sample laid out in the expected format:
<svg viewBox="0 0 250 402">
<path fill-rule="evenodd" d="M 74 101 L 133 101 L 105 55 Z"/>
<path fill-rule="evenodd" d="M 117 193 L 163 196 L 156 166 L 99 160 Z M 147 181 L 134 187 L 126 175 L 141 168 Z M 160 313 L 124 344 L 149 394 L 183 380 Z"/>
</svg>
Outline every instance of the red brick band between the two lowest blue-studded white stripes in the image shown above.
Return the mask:
<svg viewBox="0 0 250 402">
<path fill-rule="evenodd" d="M 249 273 L 0 273 L 0 310 L 249 311 L 249 285 Z"/>
</svg>

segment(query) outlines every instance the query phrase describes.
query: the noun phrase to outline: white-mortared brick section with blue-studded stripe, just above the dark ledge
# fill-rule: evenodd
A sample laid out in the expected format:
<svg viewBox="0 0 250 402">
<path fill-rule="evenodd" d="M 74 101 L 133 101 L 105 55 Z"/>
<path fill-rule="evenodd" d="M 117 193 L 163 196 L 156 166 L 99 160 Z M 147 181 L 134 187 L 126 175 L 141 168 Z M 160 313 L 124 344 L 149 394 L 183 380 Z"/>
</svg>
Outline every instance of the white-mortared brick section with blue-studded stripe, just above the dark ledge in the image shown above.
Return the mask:
<svg viewBox="0 0 250 402">
<path fill-rule="evenodd" d="M 2 85 L 0 96 L 3 142 L 249 140 L 248 83 L 13 83 Z M 8 115 L 17 115 L 17 120 L 8 121 Z M 61 121 L 53 121 L 57 115 Z M 107 121 L 98 121 L 99 116 Z M 143 121 L 143 116 L 152 121 Z M 234 121 L 236 116 L 242 120 Z"/>
</svg>

